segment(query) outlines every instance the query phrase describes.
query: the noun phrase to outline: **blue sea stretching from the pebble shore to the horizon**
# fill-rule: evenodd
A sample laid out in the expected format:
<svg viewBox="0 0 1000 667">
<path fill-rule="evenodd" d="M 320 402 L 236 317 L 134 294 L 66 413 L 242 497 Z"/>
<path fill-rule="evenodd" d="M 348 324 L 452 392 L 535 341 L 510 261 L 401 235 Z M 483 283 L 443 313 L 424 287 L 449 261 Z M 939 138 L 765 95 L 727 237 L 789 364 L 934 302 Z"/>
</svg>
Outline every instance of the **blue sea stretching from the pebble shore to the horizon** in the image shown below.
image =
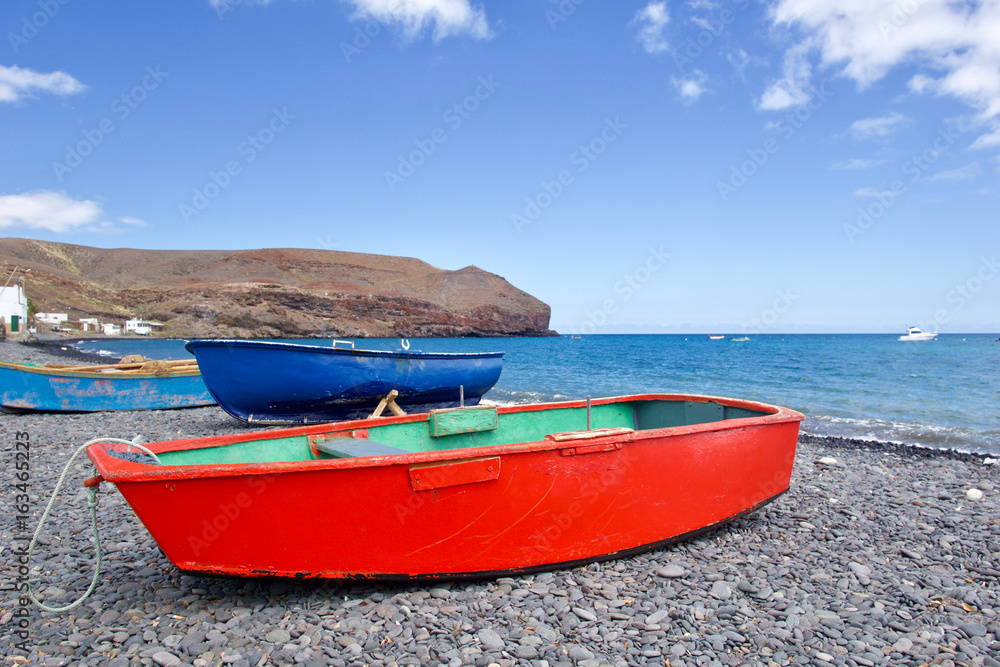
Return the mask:
<svg viewBox="0 0 1000 667">
<path fill-rule="evenodd" d="M 1000 455 L 997 334 L 696 334 L 551 338 L 414 338 L 410 350 L 504 352 L 484 402 L 536 403 L 587 396 L 685 393 L 782 405 L 806 415 L 804 433 Z M 190 357 L 183 340 L 87 339 L 81 351 L 109 358 Z M 304 339 L 330 346 L 331 339 Z M 358 348 L 399 349 L 393 339 Z"/>
</svg>

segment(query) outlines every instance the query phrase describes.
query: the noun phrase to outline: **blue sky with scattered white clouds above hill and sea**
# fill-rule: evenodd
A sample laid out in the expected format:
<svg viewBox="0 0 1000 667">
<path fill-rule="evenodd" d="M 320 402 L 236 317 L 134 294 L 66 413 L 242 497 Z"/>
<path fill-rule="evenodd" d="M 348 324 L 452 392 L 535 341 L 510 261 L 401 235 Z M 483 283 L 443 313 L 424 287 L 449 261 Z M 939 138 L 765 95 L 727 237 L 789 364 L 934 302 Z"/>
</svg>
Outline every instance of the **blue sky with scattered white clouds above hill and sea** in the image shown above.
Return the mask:
<svg viewBox="0 0 1000 667">
<path fill-rule="evenodd" d="M 0 234 L 469 264 L 561 332 L 996 332 L 1000 3 L 15 0 Z"/>
</svg>

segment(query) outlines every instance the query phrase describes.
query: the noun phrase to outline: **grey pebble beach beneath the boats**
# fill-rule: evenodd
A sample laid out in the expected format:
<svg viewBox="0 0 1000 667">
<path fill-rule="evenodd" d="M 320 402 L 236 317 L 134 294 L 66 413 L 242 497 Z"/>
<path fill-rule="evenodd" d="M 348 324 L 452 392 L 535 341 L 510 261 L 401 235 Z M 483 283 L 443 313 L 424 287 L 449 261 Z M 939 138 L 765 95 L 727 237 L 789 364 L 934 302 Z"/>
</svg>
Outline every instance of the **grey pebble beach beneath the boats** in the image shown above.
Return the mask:
<svg viewBox="0 0 1000 667">
<path fill-rule="evenodd" d="M 65 363 L 10 341 L 0 361 Z M 181 575 L 104 484 L 93 594 L 62 613 L 21 605 L 14 550 L 77 447 L 248 428 L 215 407 L 0 414 L 5 664 L 1000 666 L 1000 464 L 834 437 L 800 438 L 790 491 L 721 529 L 634 558 L 461 583 Z M 30 438 L 27 525 L 15 519 L 18 433 Z M 92 576 L 81 486 L 92 471 L 78 457 L 31 560 L 51 605 Z"/>
</svg>

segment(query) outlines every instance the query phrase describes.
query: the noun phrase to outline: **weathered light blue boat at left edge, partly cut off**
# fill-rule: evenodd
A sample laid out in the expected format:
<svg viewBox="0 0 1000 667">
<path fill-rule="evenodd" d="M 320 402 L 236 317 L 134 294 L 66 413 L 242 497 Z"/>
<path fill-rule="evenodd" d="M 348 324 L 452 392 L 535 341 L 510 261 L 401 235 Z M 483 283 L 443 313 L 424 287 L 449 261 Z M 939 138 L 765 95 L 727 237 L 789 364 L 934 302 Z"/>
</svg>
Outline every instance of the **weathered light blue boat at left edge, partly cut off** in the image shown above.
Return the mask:
<svg viewBox="0 0 1000 667">
<path fill-rule="evenodd" d="M 0 362 L 4 412 L 166 410 L 215 405 L 194 360 L 102 366 Z"/>
</svg>

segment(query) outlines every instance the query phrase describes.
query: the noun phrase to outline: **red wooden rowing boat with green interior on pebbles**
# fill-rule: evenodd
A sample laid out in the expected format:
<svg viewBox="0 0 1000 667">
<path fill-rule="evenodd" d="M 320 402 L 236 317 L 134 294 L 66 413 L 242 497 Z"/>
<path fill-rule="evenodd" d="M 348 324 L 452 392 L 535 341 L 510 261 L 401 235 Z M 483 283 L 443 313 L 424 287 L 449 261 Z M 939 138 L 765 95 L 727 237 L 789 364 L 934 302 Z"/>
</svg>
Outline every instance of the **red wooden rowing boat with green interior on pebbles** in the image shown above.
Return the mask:
<svg viewBox="0 0 1000 667">
<path fill-rule="evenodd" d="M 798 412 L 646 394 L 87 450 L 195 575 L 470 578 L 638 554 L 788 490 Z"/>
</svg>

